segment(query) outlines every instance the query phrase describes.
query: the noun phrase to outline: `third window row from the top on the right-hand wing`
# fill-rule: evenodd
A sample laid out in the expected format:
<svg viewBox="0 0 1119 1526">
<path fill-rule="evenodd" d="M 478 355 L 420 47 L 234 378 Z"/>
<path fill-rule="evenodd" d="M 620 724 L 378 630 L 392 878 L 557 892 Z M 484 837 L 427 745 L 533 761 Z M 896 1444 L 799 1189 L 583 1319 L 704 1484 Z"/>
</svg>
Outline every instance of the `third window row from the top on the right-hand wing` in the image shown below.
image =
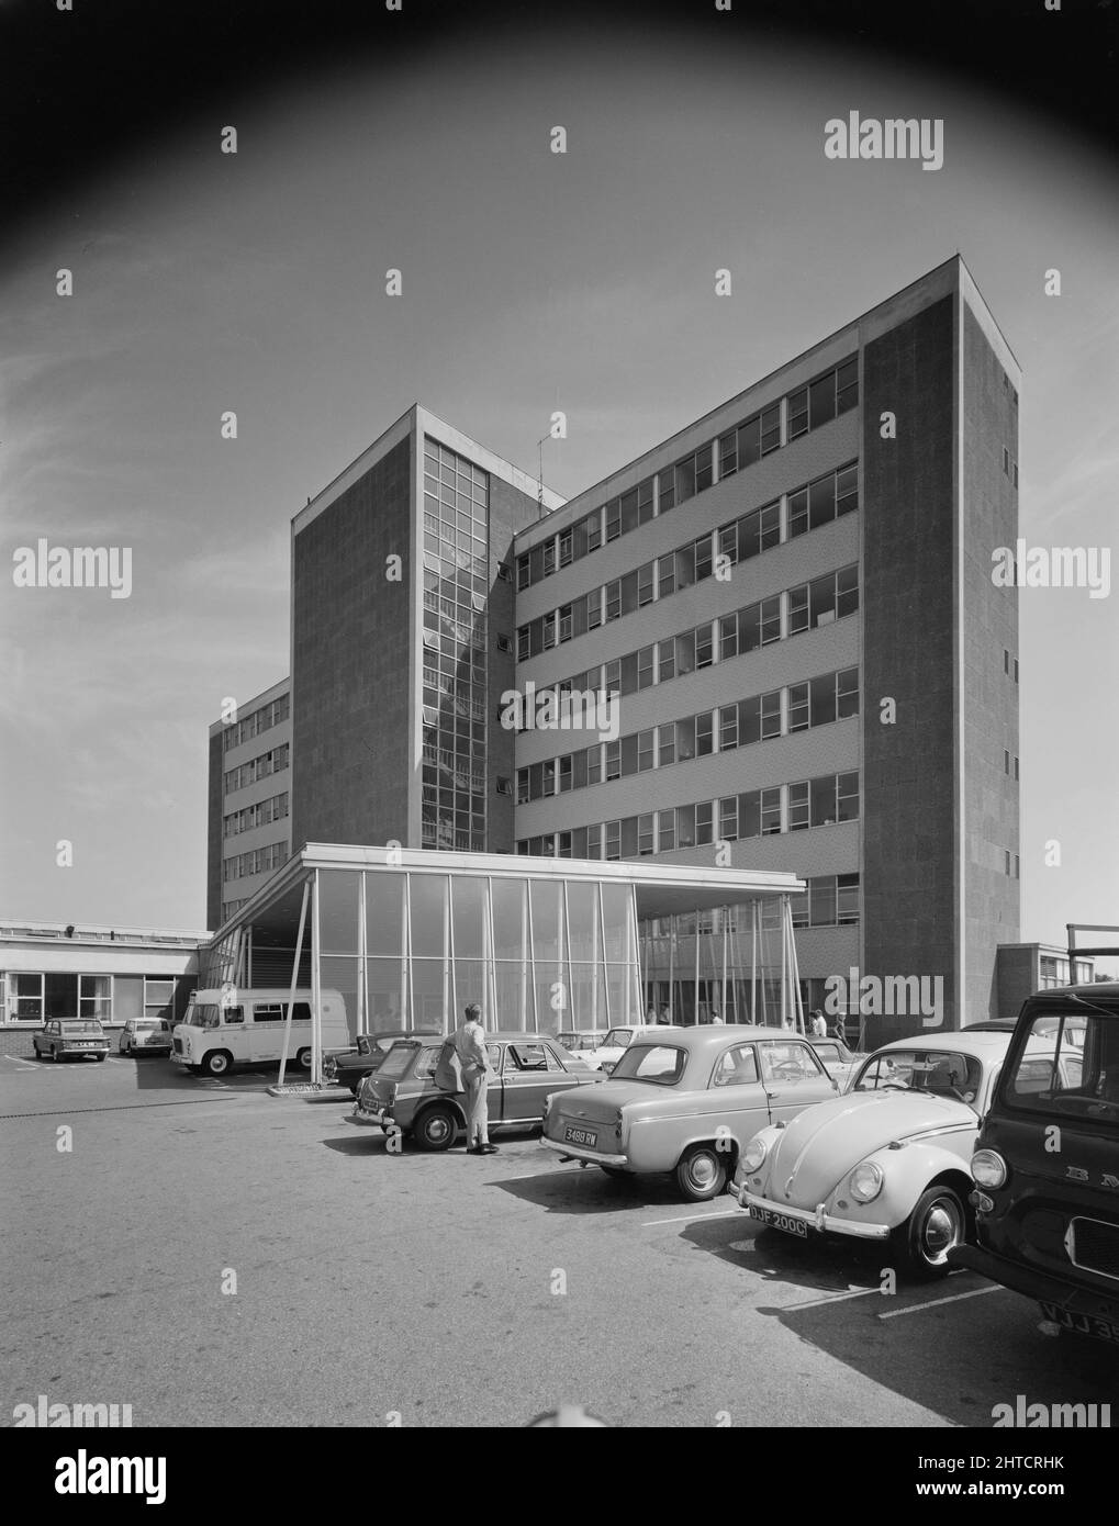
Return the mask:
<svg viewBox="0 0 1119 1526">
<path fill-rule="evenodd" d="M 559 697 L 588 690 L 612 694 L 635 694 L 673 678 L 685 678 L 713 662 L 727 662 L 757 647 L 786 641 L 801 630 L 826 626 L 858 610 L 858 563 L 824 572 L 811 583 L 757 600 L 718 620 L 705 620 L 676 636 L 653 641 L 637 652 L 595 664 L 583 673 L 560 679 L 554 685 Z M 537 690 L 537 702 L 547 690 Z M 524 719 L 524 717 L 522 717 Z"/>
</svg>

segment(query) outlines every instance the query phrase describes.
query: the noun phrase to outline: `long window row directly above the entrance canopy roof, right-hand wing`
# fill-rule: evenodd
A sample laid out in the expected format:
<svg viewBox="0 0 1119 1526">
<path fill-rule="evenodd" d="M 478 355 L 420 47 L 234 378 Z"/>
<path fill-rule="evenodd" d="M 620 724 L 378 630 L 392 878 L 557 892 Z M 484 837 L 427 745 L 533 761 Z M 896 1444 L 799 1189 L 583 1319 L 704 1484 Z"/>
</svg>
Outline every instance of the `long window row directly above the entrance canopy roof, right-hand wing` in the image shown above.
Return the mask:
<svg viewBox="0 0 1119 1526">
<path fill-rule="evenodd" d="M 521 838 L 518 853 L 534 858 L 647 858 L 673 848 L 702 847 L 716 839 L 736 842 L 742 838 L 830 827 L 837 821 L 856 821 L 858 813 L 859 777 L 855 769 L 798 780 L 795 784 L 750 789 L 722 800 L 669 806 L 666 810 L 572 827 L 569 832 Z"/>
</svg>

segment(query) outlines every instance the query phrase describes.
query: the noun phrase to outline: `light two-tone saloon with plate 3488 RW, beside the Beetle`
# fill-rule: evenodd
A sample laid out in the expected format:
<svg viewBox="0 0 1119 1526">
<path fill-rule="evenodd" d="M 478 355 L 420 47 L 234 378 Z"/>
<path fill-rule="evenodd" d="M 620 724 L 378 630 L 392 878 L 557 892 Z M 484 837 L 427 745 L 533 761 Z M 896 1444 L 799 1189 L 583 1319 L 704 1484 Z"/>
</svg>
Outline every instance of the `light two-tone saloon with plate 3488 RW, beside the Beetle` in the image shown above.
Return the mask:
<svg viewBox="0 0 1119 1526">
<path fill-rule="evenodd" d="M 769 1027 L 643 1032 L 592 1091 L 550 1099 L 542 1144 L 609 1177 L 673 1172 L 693 1202 L 727 1186 L 740 1148 L 837 1094 L 815 1051 Z"/>
</svg>

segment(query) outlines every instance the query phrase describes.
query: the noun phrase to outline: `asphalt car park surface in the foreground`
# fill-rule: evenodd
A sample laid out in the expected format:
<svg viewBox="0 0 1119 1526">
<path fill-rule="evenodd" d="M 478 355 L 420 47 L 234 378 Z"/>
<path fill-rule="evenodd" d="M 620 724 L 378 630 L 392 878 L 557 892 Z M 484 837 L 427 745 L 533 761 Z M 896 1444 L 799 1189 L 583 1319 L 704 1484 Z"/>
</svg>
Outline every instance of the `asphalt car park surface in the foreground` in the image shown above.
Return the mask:
<svg viewBox="0 0 1119 1526">
<path fill-rule="evenodd" d="M 0 1061 L 9 1413 L 44 1393 L 136 1425 L 579 1402 L 615 1425 L 989 1427 L 1017 1395 L 1110 1401 L 1110 1347 L 1046 1338 L 972 1273 L 884 1294 L 873 1248 L 789 1239 L 727 1193 L 681 1202 L 533 1132 L 394 1149 L 347 1125 L 348 1091 L 270 1080 Z"/>
</svg>

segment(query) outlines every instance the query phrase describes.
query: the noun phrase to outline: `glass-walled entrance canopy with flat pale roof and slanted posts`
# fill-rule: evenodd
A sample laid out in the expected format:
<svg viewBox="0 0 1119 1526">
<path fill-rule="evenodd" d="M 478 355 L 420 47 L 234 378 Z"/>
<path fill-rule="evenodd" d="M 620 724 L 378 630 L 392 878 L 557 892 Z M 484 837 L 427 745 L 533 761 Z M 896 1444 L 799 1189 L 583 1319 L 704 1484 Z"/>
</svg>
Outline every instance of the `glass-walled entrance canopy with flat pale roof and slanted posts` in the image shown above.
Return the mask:
<svg viewBox="0 0 1119 1526">
<path fill-rule="evenodd" d="M 202 951 L 200 984 L 342 993 L 351 1036 L 782 1021 L 795 874 L 307 844 Z M 318 1065 L 318 1056 L 316 1056 Z"/>
</svg>

